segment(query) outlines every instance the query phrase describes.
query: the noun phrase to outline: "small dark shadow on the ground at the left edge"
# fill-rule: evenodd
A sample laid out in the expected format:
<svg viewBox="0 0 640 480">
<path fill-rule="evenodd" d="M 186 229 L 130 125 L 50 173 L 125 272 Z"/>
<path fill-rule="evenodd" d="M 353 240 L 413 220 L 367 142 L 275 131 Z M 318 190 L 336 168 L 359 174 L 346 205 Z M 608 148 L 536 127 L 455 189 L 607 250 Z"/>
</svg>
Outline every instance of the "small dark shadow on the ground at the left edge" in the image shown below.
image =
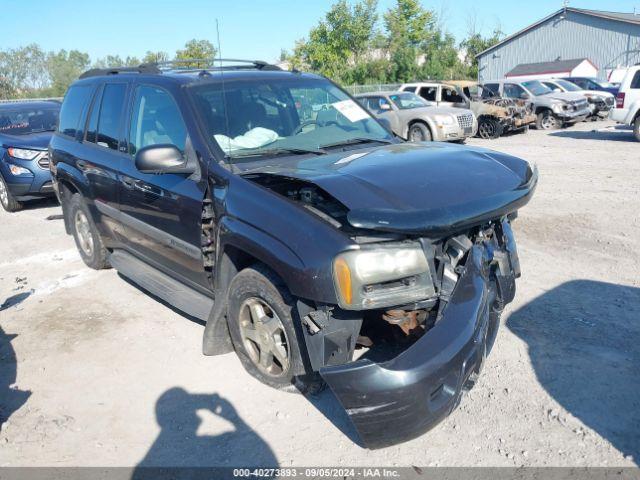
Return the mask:
<svg viewBox="0 0 640 480">
<path fill-rule="evenodd" d="M 9 417 L 27 401 L 31 392 L 15 388 L 18 366 L 16 352 L 11 345 L 17 335 L 10 335 L 0 327 L 0 431 Z"/>
</svg>

